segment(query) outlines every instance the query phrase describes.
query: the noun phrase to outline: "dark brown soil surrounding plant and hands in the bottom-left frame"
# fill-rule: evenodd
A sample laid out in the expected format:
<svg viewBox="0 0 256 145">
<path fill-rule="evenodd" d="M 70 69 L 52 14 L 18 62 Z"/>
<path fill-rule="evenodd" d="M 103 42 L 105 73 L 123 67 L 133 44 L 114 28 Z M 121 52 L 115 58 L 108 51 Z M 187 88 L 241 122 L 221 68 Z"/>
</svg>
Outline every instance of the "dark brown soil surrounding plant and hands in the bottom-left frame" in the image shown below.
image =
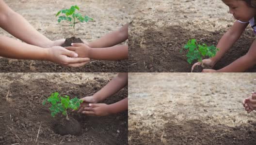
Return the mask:
<svg viewBox="0 0 256 145">
<path fill-rule="evenodd" d="M 95 77 L 94 81 L 76 85 L 70 82 L 52 83 L 46 79 L 25 82 L 22 75 L 5 77 L 15 81 L 9 86 L 1 84 L 0 87 L 0 145 L 34 145 L 40 123 L 37 145 L 128 145 L 128 111 L 103 117 L 83 116 L 68 111 L 69 116 L 81 124 L 81 133 L 62 136 L 54 132 L 54 125 L 61 116 L 51 117 L 49 104 L 42 105 L 48 95 L 55 91 L 71 98 L 91 96 L 104 87 L 107 80 Z M 9 102 L 5 99 L 8 90 Z M 102 103 L 111 104 L 126 97 L 128 87 Z"/>
</svg>

